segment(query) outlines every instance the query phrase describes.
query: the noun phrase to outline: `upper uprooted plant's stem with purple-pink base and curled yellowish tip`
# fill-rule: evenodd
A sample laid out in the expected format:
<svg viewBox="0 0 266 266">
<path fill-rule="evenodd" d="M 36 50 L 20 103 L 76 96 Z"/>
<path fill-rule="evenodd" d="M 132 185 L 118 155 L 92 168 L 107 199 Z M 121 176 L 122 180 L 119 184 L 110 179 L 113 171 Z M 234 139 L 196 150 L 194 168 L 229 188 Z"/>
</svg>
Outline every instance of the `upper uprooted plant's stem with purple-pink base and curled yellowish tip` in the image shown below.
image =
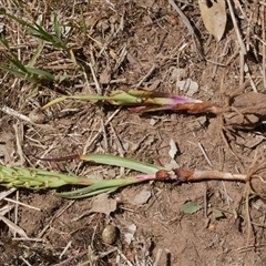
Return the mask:
<svg viewBox="0 0 266 266">
<path fill-rule="evenodd" d="M 110 95 L 68 95 L 58 98 L 44 106 L 44 111 L 57 103 L 65 100 L 80 101 L 104 101 L 112 105 L 129 106 L 131 112 L 145 113 L 161 110 L 187 111 L 188 113 L 214 113 L 218 114 L 219 109 L 208 102 L 195 100 L 187 96 L 181 96 L 173 93 L 158 91 L 149 91 L 144 89 L 124 89 L 112 91 Z"/>
</svg>

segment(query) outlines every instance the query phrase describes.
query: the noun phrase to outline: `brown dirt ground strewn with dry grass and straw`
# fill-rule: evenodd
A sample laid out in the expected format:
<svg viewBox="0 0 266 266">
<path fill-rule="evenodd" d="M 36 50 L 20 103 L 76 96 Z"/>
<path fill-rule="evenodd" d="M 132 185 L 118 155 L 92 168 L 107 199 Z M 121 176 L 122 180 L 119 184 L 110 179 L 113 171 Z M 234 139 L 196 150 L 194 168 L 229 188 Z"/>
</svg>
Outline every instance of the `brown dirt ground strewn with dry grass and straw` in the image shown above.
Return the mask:
<svg viewBox="0 0 266 266">
<path fill-rule="evenodd" d="M 181 168 L 247 174 L 256 154 L 265 154 L 263 116 L 246 130 L 233 129 L 209 114 L 161 111 L 142 115 L 103 103 L 65 101 L 45 111 L 41 124 L 24 119 L 62 94 L 108 94 L 119 88 L 171 92 L 219 106 L 231 104 L 245 81 L 249 83 L 241 93 L 265 93 L 264 1 L 232 1 L 241 35 L 249 44 L 245 69 L 228 8 L 226 30 L 217 43 L 203 24 L 197 1 L 176 1 L 193 25 L 194 38 L 165 0 L 19 2 L 0 4 L 24 20 L 42 21 L 48 30 L 57 13 L 73 53 L 45 44 L 37 60 L 37 68 L 68 75 L 61 83 L 37 84 L 1 70 L 2 164 L 114 178 L 123 170 L 34 157 L 109 153 Z M 0 19 L 6 25 L 1 34 L 27 64 L 35 52 L 35 39 L 10 18 Z M 7 63 L 7 50 L 0 49 L 1 61 Z M 174 160 L 171 142 L 177 147 Z M 72 201 L 49 190 L 12 192 L 0 206 L 11 206 L 6 217 L 30 239 L 0 222 L 0 265 L 266 265 L 266 202 L 249 193 L 245 183 L 151 182 L 104 196 L 100 197 L 106 205 L 102 208 L 95 206 L 99 197 Z M 186 202 L 202 208 L 184 213 Z M 116 227 L 112 244 L 102 239 L 108 225 Z"/>
</svg>

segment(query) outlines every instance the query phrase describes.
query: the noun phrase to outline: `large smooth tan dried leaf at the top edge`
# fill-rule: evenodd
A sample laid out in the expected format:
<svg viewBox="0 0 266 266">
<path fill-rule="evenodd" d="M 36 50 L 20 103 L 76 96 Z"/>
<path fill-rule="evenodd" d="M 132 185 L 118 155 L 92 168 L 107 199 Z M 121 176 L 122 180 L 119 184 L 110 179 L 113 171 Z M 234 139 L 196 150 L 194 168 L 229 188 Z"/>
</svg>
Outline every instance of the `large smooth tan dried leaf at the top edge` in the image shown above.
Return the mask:
<svg viewBox="0 0 266 266">
<path fill-rule="evenodd" d="M 226 25 L 225 0 L 198 0 L 198 4 L 207 31 L 219 41 Z"/>
</svg>

